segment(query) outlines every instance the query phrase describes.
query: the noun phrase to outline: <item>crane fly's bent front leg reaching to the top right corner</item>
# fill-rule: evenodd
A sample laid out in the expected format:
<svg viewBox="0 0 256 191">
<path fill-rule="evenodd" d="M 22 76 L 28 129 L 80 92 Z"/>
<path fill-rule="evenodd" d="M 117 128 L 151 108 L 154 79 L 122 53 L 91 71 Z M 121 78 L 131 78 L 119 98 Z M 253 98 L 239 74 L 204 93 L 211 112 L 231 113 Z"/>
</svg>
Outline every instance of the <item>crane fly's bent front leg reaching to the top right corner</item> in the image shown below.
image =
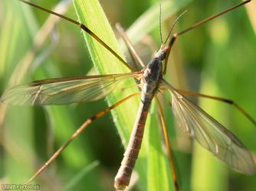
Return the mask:
<svg viewBox="0 0 256 191">
<path fill-rule="evenodd" d="M 176 33 L 176 34 L 173 34 L 172 37 L 171 37 L 171 40 L 169 41 L 167 50 L 166 50 L 165 66 L 164 66 L 164 70 L 163 70 L 162 73 L 163 73 L 163 74 L 166 74 L 167 63 L 168 63 L 168 59 L 169 59 L 169 53 L 170 53 L 170 51 L 171 51 L 171 49 L 172 49 L 172 45 L 174 44 L 174 42 L 175 42 L 175 40 L 176 40 L 177 37 L 179 37 L 179 36 L 182 35 L 182 34 L 185 34 L 185 33 L 188 32 L 188 31 L 191 31 L 191 30 L 194 29 L 194 28 L 199 27 L 199 26 L 202 25 L 202 24 L 205 24 L 205 23 L 208 22 L 208 21 L 212 21 L 212 19 L 214 19 L 214 18 L 218 18 L 219 16 L 224 15 L 225 13 L 227 13 L 227 12 L 229 12 L 229 11 L 232 11 L 232 10 L 234 10 L 235 8 L 241 7 L 242 5 L 247 4 L 248 2 L 251 2 L 251 0 L 247 0 L 247 1 L 245 1 L 245 2 L 241 2 L 241 3 L 239 3 L 238 5 L 235 5 L 235 6 L 231 7 L 231 8 L 225 9 L 224 11 L 221 11 L 221 12 L 219 12 L 219 13 L 216 14 L 216 15 L 212 15 L 211 17 L 205 18 L 204 20 L 199 21 L 199 22 L 196 23 L 196 24 L 193 24 L 191 27 L 185 28 L 183 31 L 179 31 L 179 32 Z"/>
</svg>

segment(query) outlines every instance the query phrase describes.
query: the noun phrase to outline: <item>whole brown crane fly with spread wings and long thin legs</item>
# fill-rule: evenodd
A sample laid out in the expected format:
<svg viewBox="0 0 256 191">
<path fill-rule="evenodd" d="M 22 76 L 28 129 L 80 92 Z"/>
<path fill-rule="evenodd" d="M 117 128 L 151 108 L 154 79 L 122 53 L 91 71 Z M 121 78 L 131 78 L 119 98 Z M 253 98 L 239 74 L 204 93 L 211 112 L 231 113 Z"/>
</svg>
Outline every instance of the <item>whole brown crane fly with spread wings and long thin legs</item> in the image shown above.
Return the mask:
<svg viewBox="0 0 256 191">
<path fill-rule="evenodd" d="M 172 36 L 171 30 L 165 41 L 162 40 L 161 34 L 162 46 L 154 54 L 153 59 L 147 65 L 143 63 L 143 61 L 139 58 L 133 46 L 130 44 L 130 41 L 124 34 L 123 29 L 118 26 L 118 31 L 120 31 L 120 34 L 126 41 L 126 44 L 128 44 L 131 52 L 134 53 L 134 57 L 136 57 L 136 60 L 138 60 L 138 62 L 143 67 L 143 70 L 136 70 L 133 65 L 126 63 L 126 61 L 123 60 L 123 58 L 120 57 L 118 53 L 116 53 L 111 47 L 105 44 L 103 40 L 97 37 L 97 35 L 94 34 L 93 31 L 90 31 L 90 29 L 87 28 L 84 24 L 74 21 L 71 18 L 67 18 L 64 15 L 59 15 L 54 11 L 41 8 L 38 5 L 34 5 L 30 2 L 26 2 L 24 0 L 19 1 L 31 5 L 34 8 L 38 8 L 42 11 L 47 11 L 52 15 L 57 15 L 64 20 L 76 24 L 82 30 L 90 34 L 91 37 L 94 37 L 94 39 L 102 44 L 103 47 L 107 48 L 110 53 L 113 53 L 113 55 L 117 57 L 117 59 L 120 60 L 125 66 L 127 66 L 131 72 L 38 80 L 28 85 L 14 86 L 6 90 L 2 95 L 2 102 L 11 103 L 14 105 L 61 105 L 74 102 L 90 102 L 103 99 L 108 94 L 110 94 L 110 92 L 113 92 L 119 83 L 131 78 L 137 79 L 139 81 L 138 86 L 141 90 L 138 93 L 134 93 L 123 99 L 120 99 L 120 101 L 116 104 L 111 105 L 109 108 L 106 108 L 102 112 L 97 113 L 97 115 L 87 119 L 87 121 L 85 121 L 84 124 L 81 125 L 80 128 L 71 136 L 71 138 L 62 147 L 60 147 L 46 163 L 44 163 L 44 165 L 34 174 L 34 176 L 28 180 L 28 182 L 34 180 L 36 176 L 38 176 L 46 167 L 48 167 L 49 164 L 52 163 L 52 161 L 59 154 L 61 154 L 61 151 L 63 151 L 64 148 L 67 147 L 67 145 L 70 144 L 78 134 L 84 131 L 84 128 L 86 128 L 87 125 L 90 125 L 90 123 L 92 123 L 95 119 L 100 118 L 107 112 L 110 112 L 110 110 L 116 108 L 121 103 L 126 102 L 126 100 L 131 99 L 136 95 L 140 95 L 141 101 L 139 104 L 136 121 L 133 126 L 132 134 L 130 135 L 130 141 L 126 147 L 125 153 L 123 154 L 124 157 L 120 165 L 120 169 L 117 172 L 117 176 L 115 177 L 114 183 L 116 189 L 125 189 L 126 186 L 128 186 L 130 183 L 130 177 L 133 172 L 136 159 L 139 156 L 139 149 L 143 140 L 143 131 L 151 102 L 154 97 L 157 97 L 159 94 L 162 94 L 162 92 L 165 91 L 169 92 L 172 97 L 172 102 L 169 104 L 172 107 L 172 112 L 176 119 L 176 124 L 179 126 L 179 128 L 188 133 L 192 138 L 195 138 L 195 140 L 198 141 L 202 147 L 205 147 L 208 151 L 212 152 L 215 157 L 218 157 L 218 159 L 224 161 L 235 170 L 248 175 L 251 175 L 255 172 L 254 160 L 252 159 L 251 154 L 244 146 L 244 144 L 242 144 L 234 134 L 223 127 L 218 121 L 204 112 L 202 108 L 199 108 L 192 101 L 190 101 L 190 99 L 188 99 L 185 95 L 203 96 L 212 99 L 218 99 L 223 102 L 228 102 L 229 104 L 235 105 L 235 107 L 237 107 L 244 115 L 246 115 L 255 125 L 256 122 L 254 119 L 251 118 L 251 116 L 248 115 L 244 109 L 239 107 L 234 102 L 231 102 L 230 100 L 212 97 L 209 95 L 202 95 L 196 92 L 185 92 L 176 89 L 163 78 L 167 70 L 169 53 L 177 37 L 251 1 L 241 2 L 240 4 L 228 8 L 217 15 L 213 15 L 212 17 L 206 18 L 205 20 L 194 24 L 183 31 L 172 34 Z M 174 24 L 172 24 L 172 28 L 174 27 L 176 21 Z M 162 126 L 164 127 L 163 131 L 165 131 L 164 122 L 162 123 Z M 165 136 L 165 141 L 167 147 L 169 147 L 169 139 L 167 136 Z M 169 161 L 172 167 L 173 181 L 176 186 L 176 190 L 179 190 L 176 168 L 172 161 L 172 153 L 170 147 L 168 151 Z"/>
</svg>

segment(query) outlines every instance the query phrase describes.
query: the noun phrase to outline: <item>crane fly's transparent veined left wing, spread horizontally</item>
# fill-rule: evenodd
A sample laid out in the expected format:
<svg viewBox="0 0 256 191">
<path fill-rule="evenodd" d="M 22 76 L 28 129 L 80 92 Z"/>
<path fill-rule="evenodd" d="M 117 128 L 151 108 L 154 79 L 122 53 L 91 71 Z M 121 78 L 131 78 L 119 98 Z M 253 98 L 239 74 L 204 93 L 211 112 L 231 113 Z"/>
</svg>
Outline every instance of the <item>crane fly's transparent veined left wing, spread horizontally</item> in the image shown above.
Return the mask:
<svg viewBox="0 0 256 191">
<path fill-rule="evenodd" d="M 102 99 L 118 83 L 139 73 L 44 79 L 14 86 L 4 92 L 2 102 L 14 105 L 60 105 Z"/>
</svg>

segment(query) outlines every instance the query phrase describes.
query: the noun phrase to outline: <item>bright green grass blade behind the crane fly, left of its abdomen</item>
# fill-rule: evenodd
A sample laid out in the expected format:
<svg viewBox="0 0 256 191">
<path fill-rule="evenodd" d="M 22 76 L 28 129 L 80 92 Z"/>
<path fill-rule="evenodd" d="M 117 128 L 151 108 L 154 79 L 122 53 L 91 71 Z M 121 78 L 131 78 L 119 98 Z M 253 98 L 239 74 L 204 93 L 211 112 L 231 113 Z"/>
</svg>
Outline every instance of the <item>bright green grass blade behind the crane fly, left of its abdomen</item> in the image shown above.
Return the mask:
<svg viewBox="0 0 256 191">
<path fill-rule="evenodd" d="M 100 7 L 97 1 L 90 1 L 86 3 L 82 0 L 74 1 L 74 6 L 77 11 L 77 16 L 81 23 L 85 24 L 91 31 L 94 31 L 98 37 L 103 39 L 106 44 L 113 48 L 119 55 L 122 55 L 120 48 L 117 44 L 117 39 L 113 35 L 113 31 L 108 24 L 107 18 L 103 15 L 103 10 Z M 94 62 L 94 66 L 97 68 L 97 72 L 100 74 L 109 74 L 109 73 L 129 73 L 126 66 L 123 66 L 116 57 L 112 55 L 108 50 L 106 50 L 101 44 L 96 40 L 92 39 L 90 35 L 85 34 L 87 47 L 90 51 L 90 57 Z M 86 64 L 86 63 L 85 63 Z M 133 79 L 127 80 L 122 86 L 133 86 L 135 82 Z M 132 92 L 136 92 L 136 88 L 129 88 L 124 93 L 121 91 L 115 91 L 110 96 L 108 96 L 107 101 L 110 105 L 117 102 L 121 98 L 124 98 L 125 95 L 129 95 Z M 129 102 L 129 103 L 128 103 Z M 120 127 L 124 129 L 130 129 L 130 126 L 133 126 L 133 121 L 136 114 L 130 114 L 131 108 L 138 107 L 139 99 L 131 99 L 127 103 L 122 105 L 122 108 L 115 109 L 115 112 L 118 113 L 114 115 L 114 121 L 117 120 L 117 126 L 119 127 L 119 132 L 122 137 L 123 143 L 127 143 L 129 137 L 128 132 L 120 131 Z M 122 114 L 122 115 L 119 115 Z M 118 116 L 118 119 L 117 119 Z M 122 117 L 123 116 L 123 117 Z"/>
</svg>

